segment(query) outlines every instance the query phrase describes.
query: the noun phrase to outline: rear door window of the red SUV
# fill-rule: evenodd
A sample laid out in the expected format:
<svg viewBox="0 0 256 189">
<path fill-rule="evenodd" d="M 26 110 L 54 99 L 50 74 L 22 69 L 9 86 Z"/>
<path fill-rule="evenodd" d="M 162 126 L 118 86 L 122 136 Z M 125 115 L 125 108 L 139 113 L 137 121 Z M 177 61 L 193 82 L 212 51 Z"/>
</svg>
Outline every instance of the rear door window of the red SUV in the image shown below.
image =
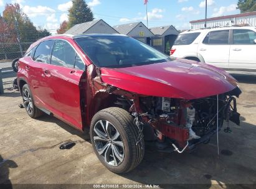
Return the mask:
<svg viewBox="0 0 256 189">
<path fill-rule="evenodd" d="M 54 40 L 45 40 L 41 42 L 34 54 L 34 60 L 36 62 L 42 63 L 50 63 L 50 54 L 52 52 L 52 45 L 54 44 Z"/>
</svg>

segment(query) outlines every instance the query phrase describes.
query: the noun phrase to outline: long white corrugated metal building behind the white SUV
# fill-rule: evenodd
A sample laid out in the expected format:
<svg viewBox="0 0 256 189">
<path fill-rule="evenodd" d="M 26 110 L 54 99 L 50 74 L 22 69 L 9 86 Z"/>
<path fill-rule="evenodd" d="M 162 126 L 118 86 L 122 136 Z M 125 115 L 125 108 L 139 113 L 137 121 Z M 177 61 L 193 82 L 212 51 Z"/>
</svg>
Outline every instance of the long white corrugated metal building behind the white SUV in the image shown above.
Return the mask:
<svg viewBox="0 0 256 189">
<path fill-rule="evenodd" d="M 206 27 L 219 27 L 229 25 L 247 25 L 256 26 L 256 11 L 246 12 L 242 14 L 234 14 L 230 16 L 212 17 L 197 21 L 190 21 L 191 29 L 202 29 L 206 21 Z"/>
</svg>

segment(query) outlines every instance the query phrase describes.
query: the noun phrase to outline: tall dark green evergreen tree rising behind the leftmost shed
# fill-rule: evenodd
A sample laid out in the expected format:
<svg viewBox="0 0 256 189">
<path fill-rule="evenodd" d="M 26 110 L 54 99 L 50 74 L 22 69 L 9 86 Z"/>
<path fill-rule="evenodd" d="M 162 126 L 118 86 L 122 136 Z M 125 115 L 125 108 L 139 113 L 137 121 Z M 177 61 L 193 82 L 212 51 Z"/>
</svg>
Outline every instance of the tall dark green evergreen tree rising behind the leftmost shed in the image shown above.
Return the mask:
<svg viewBox="0 0 256 189">
<path fill-rule="evenodd" d="M 93 21 L 93 13 L 84 0 L 72 0 L 73 6 L 69 9 L 68 29 L 75 24 Z"/>
</svg>

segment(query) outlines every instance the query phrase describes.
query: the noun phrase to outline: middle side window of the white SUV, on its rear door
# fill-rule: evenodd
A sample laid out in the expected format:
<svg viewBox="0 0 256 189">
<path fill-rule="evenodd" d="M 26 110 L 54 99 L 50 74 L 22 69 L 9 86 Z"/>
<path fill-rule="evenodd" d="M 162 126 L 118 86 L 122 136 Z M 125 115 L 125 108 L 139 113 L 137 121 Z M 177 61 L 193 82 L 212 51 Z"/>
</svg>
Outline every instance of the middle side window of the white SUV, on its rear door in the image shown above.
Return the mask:
<svg viewBox="0 0 256 189">
<path fill-rule="evenodd" d="M 209 45 L 215 45 L 215 44 L 222 44 L 222 45 L 229 44 L 229 30 L 219 30 L 219 31 L 210 32 Z"/>
</svg>

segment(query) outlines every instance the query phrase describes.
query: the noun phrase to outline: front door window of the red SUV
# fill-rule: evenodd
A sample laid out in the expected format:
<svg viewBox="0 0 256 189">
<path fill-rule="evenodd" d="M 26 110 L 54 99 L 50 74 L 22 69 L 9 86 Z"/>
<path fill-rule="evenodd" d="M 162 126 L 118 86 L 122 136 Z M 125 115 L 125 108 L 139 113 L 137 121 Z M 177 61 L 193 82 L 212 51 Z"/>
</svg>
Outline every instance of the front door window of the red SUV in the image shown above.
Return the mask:
<svg viewBox="0 0 256 189">
<path fill-rule="evenodd" d="M 75 50 L 65 40 L 56 40 L 52 50 L 52 65 L 74 68 Z"/>
</svg>

